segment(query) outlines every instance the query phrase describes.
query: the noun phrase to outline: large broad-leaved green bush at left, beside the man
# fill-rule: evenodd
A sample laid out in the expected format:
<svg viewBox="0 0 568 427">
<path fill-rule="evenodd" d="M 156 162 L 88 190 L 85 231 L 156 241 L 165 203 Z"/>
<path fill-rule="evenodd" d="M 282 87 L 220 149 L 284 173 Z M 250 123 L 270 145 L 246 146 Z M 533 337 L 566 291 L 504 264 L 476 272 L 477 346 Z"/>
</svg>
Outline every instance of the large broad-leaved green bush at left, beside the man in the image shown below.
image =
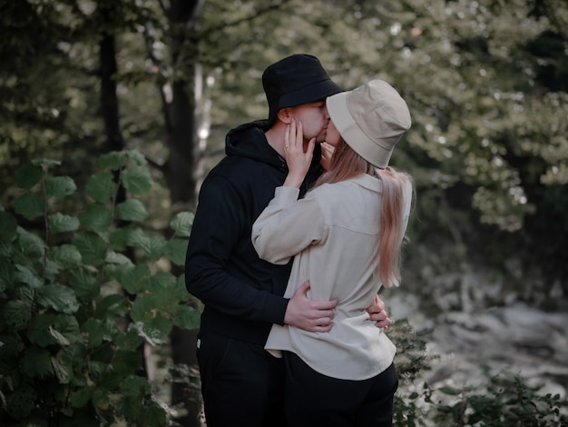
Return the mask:
<svg viewBox="0 0 568 427">
<path fill-rule="evenodd" d="M 183 263 L 192 215 L 178 214 L 166 241 L 143 230 L 138 199 L 116 203 L 119 185 L 132 195 L 152 187 L 136 151 L 101 156 L 86 185 L 91 200 L 77 214 L 58 212 L 76 188 L 53 175 L 57 164 L 35 161 L 15 176 L 15 214 L 40 220 L 42 233 L 0 211 L 0 423 L 165 425 L 140 376 L 142 344 L 199 323 L 183 277 L 160 267 Z"/>
</svg>

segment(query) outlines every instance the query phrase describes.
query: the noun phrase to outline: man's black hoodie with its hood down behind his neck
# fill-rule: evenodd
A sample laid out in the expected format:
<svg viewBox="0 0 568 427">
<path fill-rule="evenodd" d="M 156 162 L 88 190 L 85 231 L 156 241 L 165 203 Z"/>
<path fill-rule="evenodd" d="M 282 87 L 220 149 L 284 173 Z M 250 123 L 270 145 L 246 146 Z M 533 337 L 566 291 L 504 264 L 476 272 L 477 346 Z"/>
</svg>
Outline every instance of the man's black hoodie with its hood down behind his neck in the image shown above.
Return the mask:
<svg viewBox="0 0 568 427">
<path fill-rule="evenodd" d="M 227 134 L 227 156 L 201 185 L 185 262 L 187 290 L 204 304 L 201 331 L 259 344 L 272 323 L 284 323 L 289 300 L 282 295 L 291 268 L 291 262 L 260 260 L 250 241 L 252 223 L 288 174 L 267 130 L 268 122 L 258 121 Z M 300 195 L 320 174 L 319 160 L 317 144 Z"/>
</svg>

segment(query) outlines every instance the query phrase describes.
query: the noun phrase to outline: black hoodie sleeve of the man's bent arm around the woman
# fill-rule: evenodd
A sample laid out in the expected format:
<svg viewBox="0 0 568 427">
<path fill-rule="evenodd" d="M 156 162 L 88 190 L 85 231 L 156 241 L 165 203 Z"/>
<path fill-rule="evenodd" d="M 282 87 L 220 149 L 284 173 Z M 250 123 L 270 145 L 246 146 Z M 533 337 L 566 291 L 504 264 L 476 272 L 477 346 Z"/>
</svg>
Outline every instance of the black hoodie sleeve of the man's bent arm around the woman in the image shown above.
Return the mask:
<svg viewBox="0 0 568 427">
<path fill-rule="evenodd" d="M 217 175 L 203 183 L 186 254 L 186 288 L 221 313 L 283 323 L 289 300 L 229 273 L 244 233 L 250 242 L 244 212 L 239 191 L 228 179 Z"/>
</svg>

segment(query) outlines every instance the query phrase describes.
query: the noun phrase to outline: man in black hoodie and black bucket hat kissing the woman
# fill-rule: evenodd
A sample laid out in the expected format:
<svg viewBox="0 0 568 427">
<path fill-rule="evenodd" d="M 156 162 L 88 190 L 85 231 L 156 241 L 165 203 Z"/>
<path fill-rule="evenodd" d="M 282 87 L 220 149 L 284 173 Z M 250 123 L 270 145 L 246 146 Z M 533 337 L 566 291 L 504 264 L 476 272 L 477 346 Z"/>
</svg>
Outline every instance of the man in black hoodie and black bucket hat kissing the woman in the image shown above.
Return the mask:
<svg viewBox="0 0 568 427">
<path fill-rule="evenodd" d="M 270 65 L 262 84 L 269 119 L 242 124 L 227 135 L 227 156 L 201 186 L 188 245 L 186 286 L 204 304 L 197 354 L 208 427 L 285 425 L 284 367 L 264 350 L 270 327 L 287 323 L 328 332 L 337 304 L 309 300 L 308 282 L 291 299 L 283 298 L 291 263 L 260 260 L 250 234 L 288 174 L 286 127 L 294 118 L 303 124 L 306 143 L 324 142 L 325 99 L 343 90 L 312 55 L 291 55 Z M 318 144 L 300 194 L 321 173 L 320 155 Z M 370 319 L 387 326 L 384 306 L 377 304 L 368 309 Z"/>
</svg>

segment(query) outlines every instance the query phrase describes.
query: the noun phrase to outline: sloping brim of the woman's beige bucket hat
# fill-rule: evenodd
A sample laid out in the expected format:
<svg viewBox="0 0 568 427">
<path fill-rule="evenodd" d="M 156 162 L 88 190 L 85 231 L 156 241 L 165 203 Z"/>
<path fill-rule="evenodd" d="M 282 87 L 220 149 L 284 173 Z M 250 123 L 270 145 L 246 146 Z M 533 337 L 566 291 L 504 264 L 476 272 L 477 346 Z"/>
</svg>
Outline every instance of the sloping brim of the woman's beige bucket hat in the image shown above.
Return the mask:
<svg viewBox="0 0 568 427">
<path fill-rule="evenodd" d="M 394 147 L 385 148 L 377 144 L 365 134 L 349 112 L 348 92 L 335 94 L 328 97 L 326 104 L 331 121 L 338 129 L 343 140 L 361 157 L 379 169 L 385 169 L 388 165 Z"/>
</svg>

